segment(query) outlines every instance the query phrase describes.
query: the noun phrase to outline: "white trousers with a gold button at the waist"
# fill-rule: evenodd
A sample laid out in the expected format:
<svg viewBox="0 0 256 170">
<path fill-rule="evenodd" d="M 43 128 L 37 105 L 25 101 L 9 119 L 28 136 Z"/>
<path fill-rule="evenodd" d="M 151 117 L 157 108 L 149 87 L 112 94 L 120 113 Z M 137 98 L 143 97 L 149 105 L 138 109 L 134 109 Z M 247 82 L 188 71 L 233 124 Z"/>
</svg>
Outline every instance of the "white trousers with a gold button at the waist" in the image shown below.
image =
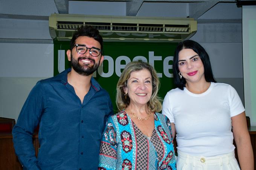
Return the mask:
<svg viewBox="0 0 256 170">
<path fill-rule="evenodd" d="M 240 170 L 235 152 L 219 156 L 192 156 L 178 151 L 177 170 Z"/>
</svg>

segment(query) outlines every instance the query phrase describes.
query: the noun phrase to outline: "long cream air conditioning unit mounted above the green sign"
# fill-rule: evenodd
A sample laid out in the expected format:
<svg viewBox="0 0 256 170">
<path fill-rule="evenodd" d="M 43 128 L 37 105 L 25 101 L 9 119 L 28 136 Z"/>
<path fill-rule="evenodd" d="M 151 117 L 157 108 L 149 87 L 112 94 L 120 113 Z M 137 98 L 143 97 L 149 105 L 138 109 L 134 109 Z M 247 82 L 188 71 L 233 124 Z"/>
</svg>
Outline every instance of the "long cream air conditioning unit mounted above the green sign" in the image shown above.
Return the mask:
<svg viewBox="0 0 256 170">
<path fill-rule="evenodd" d="M 180 42 L 197 32 L 193 18 L 131 17 L 51 14 L 49 31 L 53 39 L 70 41 L 78 27 L 92 26 L 104 41 Z"/>
</svg>

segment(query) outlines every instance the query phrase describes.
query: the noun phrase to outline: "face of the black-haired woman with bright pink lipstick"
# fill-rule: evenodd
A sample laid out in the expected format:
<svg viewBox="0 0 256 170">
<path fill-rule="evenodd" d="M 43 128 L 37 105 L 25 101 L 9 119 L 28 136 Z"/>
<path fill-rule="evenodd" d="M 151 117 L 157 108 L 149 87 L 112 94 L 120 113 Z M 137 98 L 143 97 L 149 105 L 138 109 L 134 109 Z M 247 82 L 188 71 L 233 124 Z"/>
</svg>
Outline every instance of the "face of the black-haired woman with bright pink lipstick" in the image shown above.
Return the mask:
<svg viewBox="0 0 256 170">
<path fill-rule="evenodd" d="M 178 54 L 178 69 L 187 83 L 205 82 L 204 65 L 198 54 L 190 49 L 183 48 Z"/>
</svg>

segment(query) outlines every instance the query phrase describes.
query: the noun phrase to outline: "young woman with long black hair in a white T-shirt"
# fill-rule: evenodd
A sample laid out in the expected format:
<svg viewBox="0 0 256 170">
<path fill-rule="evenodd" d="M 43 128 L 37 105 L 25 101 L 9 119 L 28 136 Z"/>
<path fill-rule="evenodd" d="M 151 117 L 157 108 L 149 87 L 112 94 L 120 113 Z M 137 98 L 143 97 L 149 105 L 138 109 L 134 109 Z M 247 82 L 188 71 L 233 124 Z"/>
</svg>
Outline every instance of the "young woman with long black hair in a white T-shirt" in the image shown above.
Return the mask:
<svg viewBox="0 0 256 170">
<path fill-rule="evenodd" d="M 195 41 L 180 42 L 173 61 L 174 83 L 162 113 L 177 134 L 177 170 L 253 170 L 245 109 L 236 90 L 216 83 L 210 59 Z"/>
</svg>

